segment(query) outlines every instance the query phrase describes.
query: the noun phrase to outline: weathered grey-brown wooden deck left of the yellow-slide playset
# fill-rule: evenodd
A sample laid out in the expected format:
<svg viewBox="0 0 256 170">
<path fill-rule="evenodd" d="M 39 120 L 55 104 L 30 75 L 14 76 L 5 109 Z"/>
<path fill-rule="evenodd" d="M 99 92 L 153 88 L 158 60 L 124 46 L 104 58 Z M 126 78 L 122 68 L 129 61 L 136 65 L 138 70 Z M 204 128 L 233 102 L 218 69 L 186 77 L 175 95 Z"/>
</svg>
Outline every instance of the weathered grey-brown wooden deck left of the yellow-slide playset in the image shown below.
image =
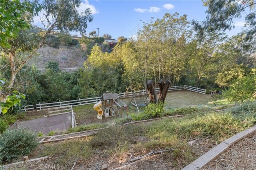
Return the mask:
<svg viewBox="0 0 256 170">
<path fill-rule="evenodd" d="M 29 121 L 17 122 L 14 127 L 28 128 L 38 133 L 39 131 L 43 134 L 48 134 L 50 131 L 63 132 L 71 126 L 71 113 L 62 115 L 54 115 L 49 117 L 43 117 L 40 119 L 32 119 Z"/>
</svg>

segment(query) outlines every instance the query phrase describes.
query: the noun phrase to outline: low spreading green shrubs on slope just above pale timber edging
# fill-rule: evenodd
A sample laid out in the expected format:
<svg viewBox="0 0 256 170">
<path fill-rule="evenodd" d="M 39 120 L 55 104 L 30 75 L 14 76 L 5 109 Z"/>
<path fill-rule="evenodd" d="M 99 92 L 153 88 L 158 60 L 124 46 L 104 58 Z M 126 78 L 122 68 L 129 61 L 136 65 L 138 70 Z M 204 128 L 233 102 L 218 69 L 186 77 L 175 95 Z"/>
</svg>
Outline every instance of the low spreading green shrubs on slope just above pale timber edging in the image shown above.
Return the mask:
<svg viewBox="0 0 256 170">
<path fill-rule="evenodd" d="M 149 135 L 155 139 L 176 134 L 182 139 L 192 140 L 211 136 L 226 139 L 244 129 L 243 123 L 231 114 L 208 113 L 183 119 L 164 119 L 152 123 Z"/>
</svg>

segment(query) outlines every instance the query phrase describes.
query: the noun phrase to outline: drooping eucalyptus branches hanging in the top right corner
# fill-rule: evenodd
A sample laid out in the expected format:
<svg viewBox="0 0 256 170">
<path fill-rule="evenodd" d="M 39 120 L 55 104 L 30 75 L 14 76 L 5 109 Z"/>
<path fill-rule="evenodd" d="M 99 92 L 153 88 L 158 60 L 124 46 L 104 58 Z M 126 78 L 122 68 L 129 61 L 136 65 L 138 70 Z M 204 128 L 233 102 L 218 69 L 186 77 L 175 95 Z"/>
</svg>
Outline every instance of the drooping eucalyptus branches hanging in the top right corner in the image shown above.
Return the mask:
<svg viewBox="0 0 256 170">
<path fill-rule="evenodd" d="M 246 39 L 256 35 L 256 0 L 204 0 L 206 10 L 205 21 L 192 21 L 200 37 L 205 32 L 226 31 L 235 27 L 234 20 L 244 17 Z"/>
</svg>

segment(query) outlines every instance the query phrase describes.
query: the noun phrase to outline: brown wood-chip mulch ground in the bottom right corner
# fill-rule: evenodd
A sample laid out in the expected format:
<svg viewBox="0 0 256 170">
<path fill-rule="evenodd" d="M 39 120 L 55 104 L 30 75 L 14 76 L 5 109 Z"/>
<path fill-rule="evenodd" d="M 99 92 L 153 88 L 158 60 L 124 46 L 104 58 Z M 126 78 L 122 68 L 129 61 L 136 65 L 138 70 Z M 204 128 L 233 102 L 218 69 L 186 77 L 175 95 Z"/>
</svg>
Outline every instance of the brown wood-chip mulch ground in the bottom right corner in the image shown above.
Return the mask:
<svg viewBox="0 0 256 170">
<path fill-rule="evenodd" d="M 256 133 L 238 141 L 203 170 L 256 170 Z"/>
</svg>

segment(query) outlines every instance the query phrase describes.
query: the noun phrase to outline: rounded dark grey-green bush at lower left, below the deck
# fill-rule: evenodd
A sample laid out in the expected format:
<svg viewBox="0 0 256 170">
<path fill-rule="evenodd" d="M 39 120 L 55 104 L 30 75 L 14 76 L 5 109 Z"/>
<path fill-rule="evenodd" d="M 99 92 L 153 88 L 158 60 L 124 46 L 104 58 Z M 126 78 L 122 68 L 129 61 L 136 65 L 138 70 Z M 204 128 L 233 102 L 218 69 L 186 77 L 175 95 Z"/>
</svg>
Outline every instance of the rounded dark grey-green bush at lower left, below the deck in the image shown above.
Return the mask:
<svg viewBox="0 0 256 170">
<path fill-rule="evenodd" d="M 1 162 L 10 162 L 33 152 L 38 146 L 36 133 L 28 129 L 11 129 L 5 131 L 0 138 Z"/>
</svg>

